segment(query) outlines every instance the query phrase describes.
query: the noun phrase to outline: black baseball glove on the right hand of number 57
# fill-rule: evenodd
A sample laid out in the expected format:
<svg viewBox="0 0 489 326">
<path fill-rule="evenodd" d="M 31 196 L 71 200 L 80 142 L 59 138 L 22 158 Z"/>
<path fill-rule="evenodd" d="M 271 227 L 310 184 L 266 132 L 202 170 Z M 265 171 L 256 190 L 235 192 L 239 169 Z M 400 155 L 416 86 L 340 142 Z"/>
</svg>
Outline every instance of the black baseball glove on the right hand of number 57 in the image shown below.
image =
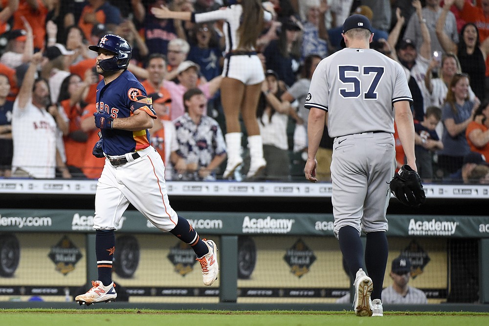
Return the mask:
<svg viewBox="0 0 489 326">
<path fill-rule="evenodd" d="M 426 201 L 419 174 L 407 164 L 404 164 L 394 175 L 389 188 L 404 205 L 419 207 Z"/>
</svg>

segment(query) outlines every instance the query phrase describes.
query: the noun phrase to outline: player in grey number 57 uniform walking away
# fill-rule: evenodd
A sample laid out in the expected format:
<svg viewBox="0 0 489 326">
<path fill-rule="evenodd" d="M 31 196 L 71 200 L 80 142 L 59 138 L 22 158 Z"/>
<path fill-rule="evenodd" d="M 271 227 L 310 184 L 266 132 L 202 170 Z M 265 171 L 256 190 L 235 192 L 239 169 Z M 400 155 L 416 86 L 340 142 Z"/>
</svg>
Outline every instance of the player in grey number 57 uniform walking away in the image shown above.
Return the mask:
<svg viewBox="0 0 489 326">
<path fill-rule="evenodd" d="M 356 272 L 357 316 L 382 316 L 387 263 L 389 182 L 394 175 L 394 118 L 407 158 L 416 170 L 411 93 L 397 62 L 369 48 L 369 20 L 352 15 L 343 24 L 347 48 L 323 59 L 311 79 L 305 107 L 309 149 L 304 169 L 316 182 L 316 152 L 327 118 L 334 138 L 331 177 L 334 233 L 348 269 Z M 360 232 L 366 233 L 365 267 Z"/>
</svg>

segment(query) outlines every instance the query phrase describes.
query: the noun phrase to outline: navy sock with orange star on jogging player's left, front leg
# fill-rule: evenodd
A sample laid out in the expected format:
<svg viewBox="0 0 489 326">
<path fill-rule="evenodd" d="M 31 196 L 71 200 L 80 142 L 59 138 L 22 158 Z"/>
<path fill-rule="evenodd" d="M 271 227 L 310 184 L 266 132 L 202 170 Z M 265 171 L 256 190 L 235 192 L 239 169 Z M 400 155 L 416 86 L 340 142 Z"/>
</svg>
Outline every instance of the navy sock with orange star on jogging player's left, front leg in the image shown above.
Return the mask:
<svg viewBox="0 0 489 326">
<path fill-rule="evenodd" d="M 112 283 L 112 260 L 114 252 L 114 230 L 96 230 L 95 255 L 97 256 L 98 280 L 105 286 Z"/>
</svg>

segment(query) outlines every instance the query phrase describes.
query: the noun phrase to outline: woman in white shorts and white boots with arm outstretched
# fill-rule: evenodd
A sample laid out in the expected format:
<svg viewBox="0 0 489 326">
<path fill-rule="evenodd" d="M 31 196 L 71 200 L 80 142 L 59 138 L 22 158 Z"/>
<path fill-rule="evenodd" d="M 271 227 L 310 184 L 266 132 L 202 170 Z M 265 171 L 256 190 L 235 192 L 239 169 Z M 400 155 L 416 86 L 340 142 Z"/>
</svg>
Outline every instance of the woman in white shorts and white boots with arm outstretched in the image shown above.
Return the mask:
<svg viewBox="0 0 489 326">
<path fill-rule="evenodd" d="M 226 42 L 226 55 L 221 82 L 221 101 L 226 118 L 227 165 L 222 177 L 232 177 L 243 164 L 241 157 L 240 113 L 248 134 L 250 167 L 247 178 L 263 170 L 263 143 L 256 120 L 261 84 L 265 80 L 263 65 L 255 45 L 263 29 L 263 22 L 272 15 L 263 9 L 261 0 L 238 0 L 238 4 L 206 13 L 170 11 L 167 7 L 152 8 L 151 13 L 160 19 L 180 19 L 192 22 L 223 20 L 222 30 Z"/>
</svg>

